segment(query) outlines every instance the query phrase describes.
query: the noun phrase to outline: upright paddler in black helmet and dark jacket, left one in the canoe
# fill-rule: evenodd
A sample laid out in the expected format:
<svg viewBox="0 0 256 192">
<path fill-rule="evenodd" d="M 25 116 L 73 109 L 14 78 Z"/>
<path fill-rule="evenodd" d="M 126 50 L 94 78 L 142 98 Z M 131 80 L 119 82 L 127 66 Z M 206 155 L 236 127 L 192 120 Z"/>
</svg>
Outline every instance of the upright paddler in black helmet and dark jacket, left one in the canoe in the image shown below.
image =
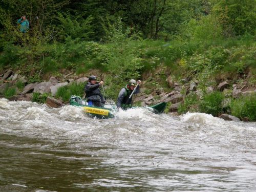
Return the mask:
<svg viewBox="0 0 256 192">
<path fill-rule="evenodd" d="M 96 76 L 92 75 L 89 77 L 89 81 L 84 87 L 86 92 L 86 99 L 89 105 L 94 106 L 103 106 L 106 100 L 103 95 L 100 93 L 99 87 L 103 84 L 103 81 L 96 83 Z"/>
</svg>

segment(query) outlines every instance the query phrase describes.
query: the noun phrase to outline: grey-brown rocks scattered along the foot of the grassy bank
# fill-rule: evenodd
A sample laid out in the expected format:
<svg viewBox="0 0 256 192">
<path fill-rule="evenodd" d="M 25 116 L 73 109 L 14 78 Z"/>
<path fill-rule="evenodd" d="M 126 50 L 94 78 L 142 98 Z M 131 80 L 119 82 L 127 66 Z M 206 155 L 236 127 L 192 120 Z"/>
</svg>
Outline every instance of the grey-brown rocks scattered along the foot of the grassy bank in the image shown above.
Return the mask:
<svg viewBox="0 0 256 192">
<path fill-rule="evenodd" d="M 3 74 L 0 75 L 0 97 L 4 97 L 4 91 L 8 88 L 15 88 L 15 95 L 8 98 L 9 100 L 14 101 L 32 101 L 33 93 L 39 95 L 48 94 L 49 96 L 46 99 L 46 104 L 53 108 L 58 108 L 64 104 L 60 99 L 56 99 L 55 94 L 58 88 L 63 86 L 68 86 L 69 83 L 86 83 L 88 77 L 74 77 L 72 73 L 64 76 L 62 82 L 57 80 L 55 77 L 50 77 L 48 81 L 45 82 L 34 82 L 28 83 L 28 78 L 21 76 L 12 70 L 6 70 Z M 69 78 L 70 77 L 70 78 Z M 171 77 L 166 79 L 168 86 L 172 91 L 164 92 L 163 89 L 155 89 L 151 94 L 146 94 L 145 85 L 147 82 L 144 81 L 141 87 L 141 92 L 136 96 L 134 102 L 139 103 L 140 106 L 152 105 L 158 102 L 168 102 L 168 112 L 177 114 L 177 110 L 180 104 L 184 102 L 184 98 L 187 94 L 193 92 L 197 95 L 198 99 L 202 99 L 203 91 L 198 88 L 198 81 L 183 80 L 183 83 L 175 82 Z M 15 84 L 16 82 L 21 82 L 25 87 L 20 90 Z M 241 86 L 238 84 L 230 84 L 228 80 L 219 83 L 217 87 L 207 87 L 206 92 L 211 93 L 214 91 L 220 91 L 225 95 L 224 105 L 228 104 L 232 98 L 236 99 L 240 96 L 247 96 L 251 94 L 256 94 L 256 89 L 248 89 L 246 83 Z M 239 118 L 231 116 L 229 114 L 221 114 L 219 118 L 225 120 L 238 121 Z"/>
</svg>

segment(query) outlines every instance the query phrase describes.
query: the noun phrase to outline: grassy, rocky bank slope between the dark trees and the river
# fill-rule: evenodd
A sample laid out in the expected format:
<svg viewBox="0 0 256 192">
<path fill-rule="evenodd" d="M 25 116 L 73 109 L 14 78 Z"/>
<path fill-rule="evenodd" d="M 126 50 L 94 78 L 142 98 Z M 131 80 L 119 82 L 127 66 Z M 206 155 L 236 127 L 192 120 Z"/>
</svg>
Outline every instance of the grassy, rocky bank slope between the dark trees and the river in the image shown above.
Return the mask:
<svg viewBox="0 0 256 192">
<path fill-rule="evenodd" d="M 141 79 L 134 105 L 165 101 L 166 113 L 256 120 L 253 36 L 204 42 L 126 39 L 122 44 L 70 40 L 7 48 L 0 54 L 0 94 L 11 100 L 44 103 L 53 97 L 61 106 L 71 95 L 82 97 L 87 77 L 96 75 L 112 100 L 129 79 Z"/>
</svg>

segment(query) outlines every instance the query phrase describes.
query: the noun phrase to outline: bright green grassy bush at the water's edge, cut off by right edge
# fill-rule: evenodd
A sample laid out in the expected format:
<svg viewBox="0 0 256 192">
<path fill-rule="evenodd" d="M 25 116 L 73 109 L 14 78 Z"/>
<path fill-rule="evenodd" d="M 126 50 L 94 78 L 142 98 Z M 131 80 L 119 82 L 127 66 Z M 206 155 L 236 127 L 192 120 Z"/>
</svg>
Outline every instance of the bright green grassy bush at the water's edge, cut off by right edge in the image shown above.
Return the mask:
<svg viewBox="0 0 256 192">
<path fill-rule="evenodd" d="M 230 104 L 231 114 L 250 121 L 256 120 L 256 94 L 240 97 Z"/>
</svg>

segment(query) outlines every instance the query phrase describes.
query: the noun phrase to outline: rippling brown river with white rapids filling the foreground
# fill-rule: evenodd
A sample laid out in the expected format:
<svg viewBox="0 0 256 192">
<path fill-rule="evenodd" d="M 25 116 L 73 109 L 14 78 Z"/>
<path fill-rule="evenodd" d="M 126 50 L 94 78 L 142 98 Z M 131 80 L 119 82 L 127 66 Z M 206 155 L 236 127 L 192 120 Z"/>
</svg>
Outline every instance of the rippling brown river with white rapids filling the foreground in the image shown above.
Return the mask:
<svg viewBox="0 0 256 192">
<path fill-rule="evenodd" d="M 0 99 L 0 191 L 256 191 L 256 122 Z"/>
</svg>

